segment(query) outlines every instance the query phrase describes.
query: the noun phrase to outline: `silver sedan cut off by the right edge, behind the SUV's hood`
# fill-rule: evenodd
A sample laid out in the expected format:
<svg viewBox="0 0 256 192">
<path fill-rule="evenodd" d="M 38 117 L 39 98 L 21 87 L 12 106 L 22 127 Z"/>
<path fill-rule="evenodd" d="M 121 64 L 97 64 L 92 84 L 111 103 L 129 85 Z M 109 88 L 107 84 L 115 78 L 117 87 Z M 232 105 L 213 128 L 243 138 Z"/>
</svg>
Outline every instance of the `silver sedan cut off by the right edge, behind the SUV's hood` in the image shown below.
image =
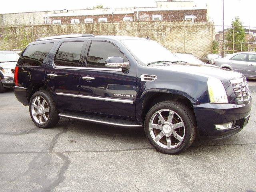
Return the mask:
<svg viewBox="0 0 256 192">
<path fill-rule="evenodd" d="M 215 65 L 244 74 L 247 78 L 256 78 L 256 52 L 238 52 L 216 59 Z"/>
</svg>

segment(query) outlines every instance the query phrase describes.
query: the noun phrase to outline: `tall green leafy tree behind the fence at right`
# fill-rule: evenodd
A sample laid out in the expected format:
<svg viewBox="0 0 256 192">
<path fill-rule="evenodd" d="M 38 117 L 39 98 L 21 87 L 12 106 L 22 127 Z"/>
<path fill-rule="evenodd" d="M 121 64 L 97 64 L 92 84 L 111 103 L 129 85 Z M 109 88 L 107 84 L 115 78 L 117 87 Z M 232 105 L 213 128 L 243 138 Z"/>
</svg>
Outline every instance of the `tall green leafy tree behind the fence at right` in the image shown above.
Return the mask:
<svg viewBox="0 0 256 192">
<path fill-rule="evenodd" d="M 242 44 L 242 51 L 247 50 L 247 46 L 245 42 L 245 30 L 243 23 L 240 21 L 239 17 L 236 17 L 235 20 L 232 21 L 232 27 L 228 29 L 228 32 L 225 34 L 226 47 L 229 50 L 233 50 L 233 27 L 234 27 L 234 50 L 235 52 L 241 51 L 241 44 Z M 242 42 L 242 43 L 241 43 Z"/>
</svg>

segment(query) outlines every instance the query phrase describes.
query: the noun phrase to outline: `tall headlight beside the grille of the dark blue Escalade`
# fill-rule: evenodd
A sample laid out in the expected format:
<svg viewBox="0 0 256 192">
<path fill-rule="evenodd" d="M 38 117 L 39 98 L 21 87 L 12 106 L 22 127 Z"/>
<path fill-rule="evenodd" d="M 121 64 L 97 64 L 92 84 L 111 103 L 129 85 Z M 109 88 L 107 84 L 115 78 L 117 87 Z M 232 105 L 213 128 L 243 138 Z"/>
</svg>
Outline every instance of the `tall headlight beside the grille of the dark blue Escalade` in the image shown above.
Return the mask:
<svg viewBox="0 0 256 192">
<path fill-rule="evenodd" d="M 211 103 L 228 103 L 226 90 L 220 80 L 209 77 L 207 86 Z"/>
</svg>

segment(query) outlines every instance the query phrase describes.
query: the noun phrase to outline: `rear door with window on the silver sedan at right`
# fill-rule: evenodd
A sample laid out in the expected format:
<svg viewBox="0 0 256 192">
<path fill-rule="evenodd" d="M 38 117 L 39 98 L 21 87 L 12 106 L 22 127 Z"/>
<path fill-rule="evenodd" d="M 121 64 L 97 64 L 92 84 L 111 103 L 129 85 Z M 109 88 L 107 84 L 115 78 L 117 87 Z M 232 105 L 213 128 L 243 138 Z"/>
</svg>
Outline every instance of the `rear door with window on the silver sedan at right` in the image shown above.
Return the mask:
<svg viewBox="0 0 256 192">
<path fill-rule="evenodd" d="M 230 66 L 232 66 L 233 70 L 240 72 L 247 76 L 247 54 L 246 53 L 241 53 L 233 56 L 228 60 Z"/>
</svg>

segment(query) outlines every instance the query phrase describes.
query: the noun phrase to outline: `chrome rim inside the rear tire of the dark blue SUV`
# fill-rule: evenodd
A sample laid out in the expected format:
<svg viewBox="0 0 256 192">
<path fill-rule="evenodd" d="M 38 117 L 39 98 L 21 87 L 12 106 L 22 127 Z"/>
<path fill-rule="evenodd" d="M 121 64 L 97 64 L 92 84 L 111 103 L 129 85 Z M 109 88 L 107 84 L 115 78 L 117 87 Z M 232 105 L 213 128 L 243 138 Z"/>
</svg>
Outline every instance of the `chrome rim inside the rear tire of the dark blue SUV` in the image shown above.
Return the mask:
<svg viewBox="0 0 256 192">
<path fill-rule="evenodd" d="M 41 96 L 36 96 L 32 100 L 32 105 L 30 106 L 32 117 L 34 120 L 42 125 L 48 121 L 49 118 L 49 106 L 46 100 Z"/>
</svg>

